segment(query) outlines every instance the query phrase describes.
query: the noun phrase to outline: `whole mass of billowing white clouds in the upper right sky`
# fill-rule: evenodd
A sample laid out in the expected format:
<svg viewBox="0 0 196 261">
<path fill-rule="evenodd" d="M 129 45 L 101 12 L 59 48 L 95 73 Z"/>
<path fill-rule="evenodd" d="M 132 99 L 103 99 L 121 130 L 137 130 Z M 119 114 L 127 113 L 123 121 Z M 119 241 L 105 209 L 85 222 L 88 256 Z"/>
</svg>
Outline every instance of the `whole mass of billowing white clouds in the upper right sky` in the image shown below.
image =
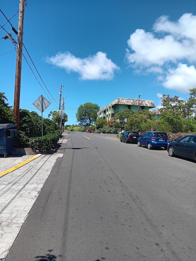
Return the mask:
<svg viewBox="0 0 196 261">
<path fill-rule="evenodd" d="M 165 88 L 187 92 L 196 87 L 195 28 L 196 16 L 192 13 L 183 14 L 175 22 L 161 16 L 153 25 L 153 32 L 137 29 L 130 35 L 126 60 L 135 73 L 159 74 L 157 80 Z M 188 65 L 183 64 L 185 61 Z"/>
</svg>

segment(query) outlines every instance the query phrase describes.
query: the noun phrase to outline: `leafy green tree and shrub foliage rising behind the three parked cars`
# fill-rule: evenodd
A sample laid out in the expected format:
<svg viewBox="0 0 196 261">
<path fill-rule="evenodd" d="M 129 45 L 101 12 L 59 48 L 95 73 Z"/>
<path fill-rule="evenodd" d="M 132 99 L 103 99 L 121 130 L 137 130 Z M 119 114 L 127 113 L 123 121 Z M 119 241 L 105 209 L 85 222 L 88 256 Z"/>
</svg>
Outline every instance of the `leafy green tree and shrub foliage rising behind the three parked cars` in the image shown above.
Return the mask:
<svg viewBox="0 0 196 261">
<path fill-rule="evenodd" d="M 145 132 L 149 130 L 165 132 L 196 132 L 196 88 L 189 89 L 189 99 L 183 100 L 178 96 L 162 96 L 162 108 L 160 118 L 156 119 L 152 111 L 141 110 L 133 112 L 128 109 L 120 111 L 115 115 L 115 120 L 122 123 L 127 118 L 126 130 L 137 130 Z M 116 124 L 115 124 L 116 125 Z"/>
</svg>

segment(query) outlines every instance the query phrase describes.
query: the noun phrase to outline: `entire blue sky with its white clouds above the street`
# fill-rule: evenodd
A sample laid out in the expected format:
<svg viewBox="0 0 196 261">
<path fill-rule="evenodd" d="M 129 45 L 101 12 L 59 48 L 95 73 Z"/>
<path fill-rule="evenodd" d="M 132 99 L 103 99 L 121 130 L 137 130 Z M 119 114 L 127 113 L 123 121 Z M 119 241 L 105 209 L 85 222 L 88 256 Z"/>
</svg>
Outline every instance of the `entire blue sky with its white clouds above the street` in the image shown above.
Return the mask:
<svg viewBox="0 0 196 261">
<path fill-rule="evenodd" d="M 188 89 L 196 87 L 195 0 L 26 3 L 23 43 L 41 79 L 23 47 L 38 80 L 23 57 L 21 109 L 41 115 L 32 103 L 43 95 L 51 102 L 43 112 L 47 117 L 58 110 L 64 85 L 67 124 L 75 125 L 77 108 L 86 102 L 102 108 L 118 97 L 141 95 L 160 108 L 161 95 L 188 99 Z M 0 9 L 17 29 L 19 0 L 3 1 Z M 16 51 L 2 37 L 16 35 L 6 22 L 0 13 L 0 91 L 13 106 Z"/>
</svg>

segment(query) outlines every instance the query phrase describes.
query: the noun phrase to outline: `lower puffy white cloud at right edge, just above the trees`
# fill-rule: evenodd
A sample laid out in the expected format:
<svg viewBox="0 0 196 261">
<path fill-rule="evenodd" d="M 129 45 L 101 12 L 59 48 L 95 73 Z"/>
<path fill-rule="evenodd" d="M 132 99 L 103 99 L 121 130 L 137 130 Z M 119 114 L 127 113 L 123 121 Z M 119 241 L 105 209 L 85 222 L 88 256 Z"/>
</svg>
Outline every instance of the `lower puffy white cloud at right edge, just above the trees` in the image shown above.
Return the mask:
<svg viewBox="0 0 196 261">
<path fill-rule="evenodd" d="M 175 69 L 169 69 L 163 86 L 168 89 L 175 89 L 187 92 L 188 89 L 196 88 L 196 69 L 193 65 L 179 63 Z"/>
</svg>

